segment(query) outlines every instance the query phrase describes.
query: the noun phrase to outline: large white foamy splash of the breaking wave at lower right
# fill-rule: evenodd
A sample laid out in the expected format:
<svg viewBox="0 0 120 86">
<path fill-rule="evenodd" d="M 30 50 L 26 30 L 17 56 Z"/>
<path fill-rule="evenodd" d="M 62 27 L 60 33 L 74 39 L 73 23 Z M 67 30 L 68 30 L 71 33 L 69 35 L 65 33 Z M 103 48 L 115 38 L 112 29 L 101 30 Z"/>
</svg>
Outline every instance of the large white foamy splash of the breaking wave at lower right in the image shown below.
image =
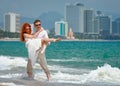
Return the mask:
<svg viewBox="0 0 120 86">
<path fill-rule="evenodd" d="M 86 81 L 120 83 L 120 69 L 105 64 L 104 66 L 98 67 L 96 70 L 91 71 L 89 74 L 86 74 L 86 79 L 84 82 Z"/>
</svg>

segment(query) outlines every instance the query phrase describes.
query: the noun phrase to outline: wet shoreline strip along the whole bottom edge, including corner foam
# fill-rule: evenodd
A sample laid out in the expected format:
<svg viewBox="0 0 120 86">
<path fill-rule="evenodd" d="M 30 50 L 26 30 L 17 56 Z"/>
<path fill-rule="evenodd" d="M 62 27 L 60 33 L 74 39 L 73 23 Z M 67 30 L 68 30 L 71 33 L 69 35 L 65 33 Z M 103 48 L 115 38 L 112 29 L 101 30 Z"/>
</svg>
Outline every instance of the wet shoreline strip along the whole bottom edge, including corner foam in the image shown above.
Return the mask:
<svg viewBox="0 0 120 86">
<path fill-rule="evenodd" d="M 21 78 L 0 78 L 0 86 L 118 86 L 107 82 L 88 82 L 81 84 L 27 80 Z"/>
</svg>

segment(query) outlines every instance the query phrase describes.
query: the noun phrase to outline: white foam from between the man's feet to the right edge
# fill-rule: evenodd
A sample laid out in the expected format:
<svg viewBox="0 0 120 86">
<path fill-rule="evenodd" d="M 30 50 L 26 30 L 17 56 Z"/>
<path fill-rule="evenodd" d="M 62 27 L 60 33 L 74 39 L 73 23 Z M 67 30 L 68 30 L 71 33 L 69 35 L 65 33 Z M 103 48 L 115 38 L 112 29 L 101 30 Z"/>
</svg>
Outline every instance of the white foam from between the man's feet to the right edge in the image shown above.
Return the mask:
<svg viewBox="0 0 120 86">
<path fill-rule="evenodd" d="M 35 79 L 41 80 L 46 79 L 45 74 L 36 73 Z M 62 83 L 88 83 L 88 82 L 107 82 L 120 84 L 120 69 L 111 67 L 105 64 L 102 67 L 98 67 L 96 70 L 92 70 L 89 73 L 73 74 L 67 72 L 55 72 L 51 74 L 51 82 L 62 82 Z"/>
</svg>

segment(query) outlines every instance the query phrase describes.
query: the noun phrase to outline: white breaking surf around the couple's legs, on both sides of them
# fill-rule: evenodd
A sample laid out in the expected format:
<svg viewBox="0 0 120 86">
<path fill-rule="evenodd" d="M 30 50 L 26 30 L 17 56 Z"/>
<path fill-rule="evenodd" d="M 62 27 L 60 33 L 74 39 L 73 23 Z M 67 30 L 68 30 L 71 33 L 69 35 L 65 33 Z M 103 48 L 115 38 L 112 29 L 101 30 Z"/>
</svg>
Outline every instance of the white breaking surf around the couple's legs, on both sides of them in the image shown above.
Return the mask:
<svg viewBox="0 0 120 86">
<path fill-rule="evenodd" d="M 12 68 L 14 67 L 25 68 L 26 64 L 26 59 L 22 57 L 0 56 L 0 72 L 3 70 L 12 70 Z M 117 67 L 112 67 L 109 64 L 105 64 L 95 70 L 68 68 L 61 65 L 48 65 L 48 67 L 51 71 L 51 82 L 78 84 L 88 82 L 108 82 L 120 84 L 120 69 Z M 40 66 L 36 63 L 35 70 L 38 69 L 40 69 Z M 20 69 L 18 68 L 18 70 Z M 0 73 L 0 77 L 4 78 L 15 78 L 20 76 L 22 76 L 22 73 L 15 73 L 14 71 L 12 74 L 10 74 L 9 72 L 5 74 Z M 46 79 L 44 72 L 36 71 L 35 79 L 41 80 L 41 77 Z"/>
</svg>

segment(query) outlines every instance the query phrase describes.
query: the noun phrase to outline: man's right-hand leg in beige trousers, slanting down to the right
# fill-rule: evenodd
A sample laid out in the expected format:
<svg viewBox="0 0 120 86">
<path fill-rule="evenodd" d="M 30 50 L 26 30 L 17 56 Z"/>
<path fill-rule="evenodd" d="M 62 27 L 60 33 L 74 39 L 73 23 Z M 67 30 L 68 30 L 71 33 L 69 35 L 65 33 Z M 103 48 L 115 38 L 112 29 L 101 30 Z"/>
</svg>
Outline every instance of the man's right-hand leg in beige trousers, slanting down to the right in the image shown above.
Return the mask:
<svg viewBox="0 0 120 86">
<path fill-rule="evenodd" d="M 49 69 L 47 67 L 47 61 L 46 61 L 45 53 L 43 53 L 43 54 L 39 53 L 38 62 L 41 65 L 42 69 L 44 70 L 44 72 L 47 76 L 47 79 L 50 80 L 50 72 L 49 72 Z"/>
</svg>

